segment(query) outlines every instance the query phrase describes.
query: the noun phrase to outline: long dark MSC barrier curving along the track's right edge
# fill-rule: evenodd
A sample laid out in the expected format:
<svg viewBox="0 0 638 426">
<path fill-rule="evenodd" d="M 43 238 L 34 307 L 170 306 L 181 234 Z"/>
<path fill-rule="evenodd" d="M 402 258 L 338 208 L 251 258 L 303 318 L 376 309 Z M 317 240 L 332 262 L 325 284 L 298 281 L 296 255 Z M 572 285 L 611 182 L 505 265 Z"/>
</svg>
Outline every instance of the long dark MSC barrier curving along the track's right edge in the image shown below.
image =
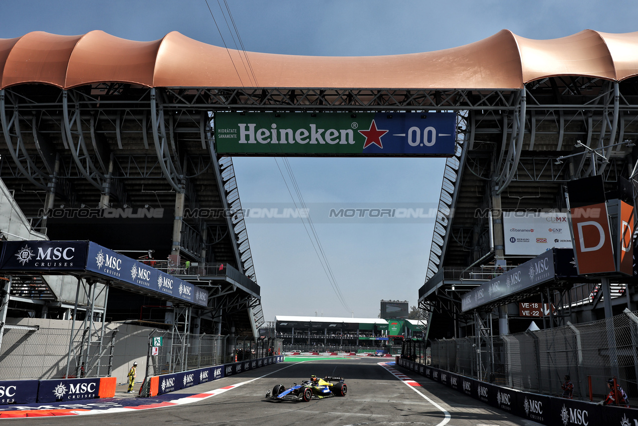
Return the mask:
<svg viewBox="0 0 638 426">
<path fill-rule="evenodd" d="M 403 358 L 397 360 L 397 365 L 494 408 L 544 425 L 638 425 L 638 409 L 597 406 L 591 402 L 503 388 Z"/>
</svg>

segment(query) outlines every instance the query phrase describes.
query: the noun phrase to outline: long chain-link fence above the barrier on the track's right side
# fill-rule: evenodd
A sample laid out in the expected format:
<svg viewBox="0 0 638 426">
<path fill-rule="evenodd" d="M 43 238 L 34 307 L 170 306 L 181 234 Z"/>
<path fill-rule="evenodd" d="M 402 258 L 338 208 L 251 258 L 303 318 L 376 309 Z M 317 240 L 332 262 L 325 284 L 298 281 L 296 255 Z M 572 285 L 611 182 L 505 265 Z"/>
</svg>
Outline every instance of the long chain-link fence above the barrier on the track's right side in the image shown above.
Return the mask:
<svg viewBox="0 0 638 426">
<path fill-rule="evenodd" d="M 413 342 L 422 351 L 423 342 Z M 412 349 L 410 349 L 412 353 Z M 638 397 L 638 316 L 625 311 L 609 320 L 503 336 L 431 341 L 431 364 L 517 390 L 560 395 L 565 375 L 574 399 L 600 399 L 616 377 Z M 591 388 L 591 395 L 590 395 Z"/>
</svg>

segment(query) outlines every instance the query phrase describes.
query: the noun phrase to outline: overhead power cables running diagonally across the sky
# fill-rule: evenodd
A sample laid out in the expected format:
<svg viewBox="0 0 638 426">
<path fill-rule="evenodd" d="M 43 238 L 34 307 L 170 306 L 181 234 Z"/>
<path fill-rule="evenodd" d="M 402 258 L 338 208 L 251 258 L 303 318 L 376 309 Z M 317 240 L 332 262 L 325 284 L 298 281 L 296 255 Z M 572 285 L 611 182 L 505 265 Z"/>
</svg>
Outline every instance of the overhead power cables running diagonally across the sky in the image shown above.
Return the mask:
<svg viewBox="0 0 638 426">
<path fill-rule="evenodd" d="M 215 26 L 217 27 L 217 31 L 219 32 L 219 36 L 221 37 L 222 42 L 224 43 L 224 47 L 226 48 L 226 52 L 228 52 L 228 57 L 230 57 L 230 61 L 233 63 L 233 67 L 235 68 L 235 73 L 237 73 L 237 77 L 239 77 L 239 81 L 241 82 L 242 86 L 245 86 L 244 83 L 242 82 L 242 78 L 241 75 L 239 75 L 239 70 L 237 70 L 237 66 L 235 65 L 234 59 L 232 57 L 232 54 L 230 54 L 230 50 L 228 50 L 228 46 L 226 45 L 226 41 L 224 40 L 224 36 L 221 33 L 221 29 L 219 29 L 219 26 L 217 24 L 217 20 L 215 19 L 212 10 L 211 10 L 211 6 L 208 3 L 208 0 L 206 1 L 206 6 L 208 7 L 209 12 L 211 13 L 211 17 L 213 22 L 215 23 Z M 232 17 L 232 13 L 230 12 L 230 8 L 228 7 L 228 3 L 226 2 L 226 0 L 223 0 L 224 6 L 226 8 L 226 13 L 228 13 L 228 18 L 226 18 L 226 13 L 224 12 L 221 4 L 219 3 L 219 0 L 217 0 L 218 6 L 219 6 L 219 10 L 221 10 L 221 14 L 224 17 L 224 20 L 226 22 L 226 27 L 228 28 L 228 31 L 230 32 L 230 35 L 233 39 L 233 43 L 235 45 L 235 49 L 237 50 L 237 52 L 239 52 L 239 57 L 242 61 L 242 66 L 244 67 L 244 70 L 246 71 L 246 73 L 248 74 L 248 78 L 251 82 L 251 84 L 254 84 L 255 87 L 258 86 L 257 84 L 257 78 L 255 75 L 255 72 L 253 71 L 253 67 L 250 63 L 250 60 L 248 58 L 248 52 L 246 52 L 246 48 L 244 48 L 244 43 L 241 40 L 241 36 L 239 35 L 239 30 L 237 29 L 237 25 L 235 24 L 235 20 Z M 230 24 L 228 24 L 228 20 L 230 20 L 231 24 L 232 24 L 232 29 L 230 27 Z M 237 40 L 235 40 L 235 35 L 237 36 Z M 239 46 L 237 45 L 237 43 L 239 43 Z M 308 238 L 313 246 L 313 249 L 315 250 L 315 253 L 317 255 L 317 258 L 319 260 L 319 263 L 322 265 L 323 268 L 323 272 L 325 273 L 330 286 L 332 286 L 332 290 L 334 291 L 336 297 L 339 300 L 339 303 L 341 303 L 341 305 L 344 307 L 344 309 L 346 309 L 346 311 L 348 311 L 348 313 L 353 313 L 353 311 L 350 309 L 350 306 L 348 305 L 348 303 L 346 302 L 346 298 L 343 296 L 343 293 L 341 292 L 341 288 L 339 288 L 339 284 L 337 283 L 337 279 L 334 276 L 334 273 L 332 272 L 332 268 L 330 267 L 330 263 L 328 261 L 328 258 L 325 254 L 325 251 L 323 250 L 323 246 L 321 244 L 321 240 L 319 239 L 319 235 L 315 229 L 315 224 L 313 224 L 312 219 L 310 218 L 309 215 L 309 209 L 308 206 L 306 205 L 306 202 L 304 201 L 304 198 L 301 194 L 301 190 L 299 188 L 299 184 L 297 184 L 297 179 L 295 179 L 295 174 L 292 170 L 292 167 L 290 166 L 290 162 L 288 161 L 287 158 L 283 157 L 283 165 L 284 168 L 286 170 L 286 173 L 288 174 L 288 179 L 290 179 L 290 185 L 293 187 L 294 191 L 295 191 L 295 195 L 297 195 L 297 200 L 299 200 L 299 203 L 297 203 L 297 200 L 295 200 L 295 196 L 293 196 L 292 191 L 290 190 L 290 186 L 288 186 L 288 182 L 286 181 L 286 177 L 283 174 L 283 171 L 281 170 L 281 166 L 279 166 L 279 162 L 277 161 L 277 158 L 274 157 L 275 160 L 275 164 L 277 165 L 277 168 L 279 169 L 279 173 L 281 174 L 281 179 L 283 179 L 284 184 L 286 185 L 286 189 L 288 190 L 288 194 L 290 195 L 290 198 L 292 199 L 293 204 L 295 205 L 295 208 L 297 209 L 297 211 L 303 211 L 307 212 L 306 215 L 300 215 L 300 219 L 301 219 L 301 223 L 304 225 L 304 229 L 306 230 L 306 234 L 308 235 Z M 306 216 L 306 221 L 304 221 L 304 216 Z M 308 230 L 308 228 L 310 228 L 310 230 Z M 311 235 L 312 234 L 312 235 Z"/>
</svg>

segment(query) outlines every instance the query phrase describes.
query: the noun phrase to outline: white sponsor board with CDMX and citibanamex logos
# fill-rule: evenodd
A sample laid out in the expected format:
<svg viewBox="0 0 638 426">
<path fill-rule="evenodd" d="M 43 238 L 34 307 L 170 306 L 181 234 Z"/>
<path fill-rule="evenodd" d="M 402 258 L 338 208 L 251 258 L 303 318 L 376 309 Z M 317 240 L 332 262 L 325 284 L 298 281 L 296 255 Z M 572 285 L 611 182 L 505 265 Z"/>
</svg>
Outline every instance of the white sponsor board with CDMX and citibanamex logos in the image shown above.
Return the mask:
<svg viewBox="0 0 638 426">
<path fill-rule="evenodd" d="M 536 256 L 556 247 L 572 248 L 567 213 L 503 212 L 505 254 Z"/>
</svg>

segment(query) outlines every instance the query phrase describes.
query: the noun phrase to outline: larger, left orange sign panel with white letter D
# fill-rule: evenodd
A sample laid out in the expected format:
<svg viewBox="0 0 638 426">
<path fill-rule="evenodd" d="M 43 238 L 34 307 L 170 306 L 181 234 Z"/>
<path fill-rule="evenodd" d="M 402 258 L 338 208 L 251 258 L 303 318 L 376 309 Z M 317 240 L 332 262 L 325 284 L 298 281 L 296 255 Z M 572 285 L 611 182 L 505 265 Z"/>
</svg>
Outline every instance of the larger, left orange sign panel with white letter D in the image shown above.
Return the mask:
<svg viewBox="0 0 638 426">
<path fill-rule="evenodd" d="M 578 273 L 615 272 L 607 203 L 584 205 L 571 210 Z"/>
</svg>

